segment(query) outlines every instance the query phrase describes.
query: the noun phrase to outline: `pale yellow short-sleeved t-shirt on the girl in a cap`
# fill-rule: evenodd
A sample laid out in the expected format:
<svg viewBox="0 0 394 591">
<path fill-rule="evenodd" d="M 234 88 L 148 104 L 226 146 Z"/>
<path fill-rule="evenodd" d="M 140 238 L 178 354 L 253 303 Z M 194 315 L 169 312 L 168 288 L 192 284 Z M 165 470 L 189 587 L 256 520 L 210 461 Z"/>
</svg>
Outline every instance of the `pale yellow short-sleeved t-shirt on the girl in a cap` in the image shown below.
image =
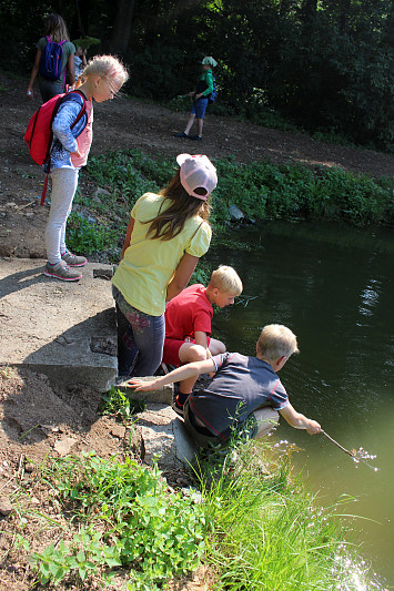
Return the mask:
<svg viewBox="0 0 394 591">
<path fill-rule="evenodd" d="M 198 257 L 204 255 L 212 236 L 211 226 L 194 216 L 171 241 L 147 238 L 150 224 L 143 222 L 158 215 L 163 201 L 161 195 L 145 193 L 135 203 L 131 212 L 134 227 L 130 246 L 112 278 L 124 299 L 150 316 L 164 313 L 166 286 L 184 253 Z"/>
</svg>

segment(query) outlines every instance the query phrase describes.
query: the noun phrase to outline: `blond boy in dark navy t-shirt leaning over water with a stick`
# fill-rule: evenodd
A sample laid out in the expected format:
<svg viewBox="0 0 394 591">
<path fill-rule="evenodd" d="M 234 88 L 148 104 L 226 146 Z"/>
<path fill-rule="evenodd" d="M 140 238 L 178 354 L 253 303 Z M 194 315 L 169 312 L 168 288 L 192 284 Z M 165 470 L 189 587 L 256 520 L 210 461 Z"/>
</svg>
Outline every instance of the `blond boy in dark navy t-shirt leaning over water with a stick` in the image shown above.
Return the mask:
<svg viewBox="0 0 394 591">
<path fill-rule="evenodd" d="M 247 429 L 250 437 L 261 438 L 277 422 L 279 414 L 295 429 L 317 434 L 320 424 L 293 408 L 276 375 L 293 353 L 299 353 L 295 335 L 283 325 L 272 324 L 263 328 L 255 357 L 224 353 L 179 367 L 152 381 L 132 379 L 128 385 L 135 391 L 149 391 L 213 374 L 210 384 L 193 391 L 184 405 L 185 427 L 200 447 L 224 444 L 234 430 Z"/>
</svg>

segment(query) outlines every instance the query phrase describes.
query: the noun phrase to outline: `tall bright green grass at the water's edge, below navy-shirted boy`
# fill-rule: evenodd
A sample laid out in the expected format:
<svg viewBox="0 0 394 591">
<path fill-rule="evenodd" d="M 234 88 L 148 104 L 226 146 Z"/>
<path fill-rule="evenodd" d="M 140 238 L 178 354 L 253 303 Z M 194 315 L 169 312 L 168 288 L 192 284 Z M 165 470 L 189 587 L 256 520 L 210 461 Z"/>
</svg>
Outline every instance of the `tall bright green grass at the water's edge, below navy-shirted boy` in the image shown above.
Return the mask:
<svg viewBox="0 0 394 591">
<path fill-rule="evenodd" d="M 364 573 L 353 579 L 356 556 L 340 503 L 321 509 L 301 476 L 290 477 L 287 454 L 273 455 L 266 441 L 235 442 L 228 455 L 210 451 L 196 475 L 215 590 L 355 591 L 366 583 Z"/>
</svg>

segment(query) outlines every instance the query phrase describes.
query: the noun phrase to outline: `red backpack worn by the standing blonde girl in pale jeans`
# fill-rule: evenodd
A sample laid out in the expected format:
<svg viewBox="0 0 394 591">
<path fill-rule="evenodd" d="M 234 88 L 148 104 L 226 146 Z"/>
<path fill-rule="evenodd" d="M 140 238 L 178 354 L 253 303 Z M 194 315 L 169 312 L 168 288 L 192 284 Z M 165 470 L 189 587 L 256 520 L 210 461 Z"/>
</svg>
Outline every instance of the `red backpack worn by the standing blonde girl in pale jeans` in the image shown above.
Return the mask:
<svg viewBox="0 0 394 591">
<path fill-rule="evenodd" d="M 41 205 L 43 205 L 47 195 L 48 175 L 50 173 L 50 155 L 53 141 L 52 123 L 59 111 L 59 106 L 63 102 L 64 96 L 70 96 L 72 93 L 78 93 L 83 101 L 81 111 L 75 118 L 75 121 L 70 125 L 72 129 L 78 121 L 84 115 L 87 110 L 87 101 L 82 92 L 75 90 L 63 94 L 57 94 L 46 103 L 43 103 L 38 111 L 30 118 L 28 129 L 24 133 L 24 141 L 29 146 L 31 157 L 37 164 L 48 165 L 47 177 L 41 195 Z"/>
</svg>

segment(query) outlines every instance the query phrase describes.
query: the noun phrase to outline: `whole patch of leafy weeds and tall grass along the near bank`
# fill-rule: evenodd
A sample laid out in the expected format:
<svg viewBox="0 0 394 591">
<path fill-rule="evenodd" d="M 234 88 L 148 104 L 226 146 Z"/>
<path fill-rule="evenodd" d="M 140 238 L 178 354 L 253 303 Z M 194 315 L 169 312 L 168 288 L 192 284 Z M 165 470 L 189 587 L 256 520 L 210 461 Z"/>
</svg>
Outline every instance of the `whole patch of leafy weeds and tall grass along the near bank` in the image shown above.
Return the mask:
<svg viewBox="0 0 394 591">
<path fill-rule="evenodd" d="M 156 591 L 200 564 L 210 569 L 212 591 L 368 589 L 341 503 L 323 510 L 290 467 L 270 440 L 234 441 L 200 457 L 190 473 L 195 488 L 185 495 L 170 490 L 155 465 L 129 457 L 48 458 L 34 482 L 16 492 L 8 553 L 28 560 L 49 589 L 94 582 Z M 58 514 L 34 513 L 36 487 L 50 491 Z M 44 529 L 55 543 L 37 549 Z"/>
</svg>

